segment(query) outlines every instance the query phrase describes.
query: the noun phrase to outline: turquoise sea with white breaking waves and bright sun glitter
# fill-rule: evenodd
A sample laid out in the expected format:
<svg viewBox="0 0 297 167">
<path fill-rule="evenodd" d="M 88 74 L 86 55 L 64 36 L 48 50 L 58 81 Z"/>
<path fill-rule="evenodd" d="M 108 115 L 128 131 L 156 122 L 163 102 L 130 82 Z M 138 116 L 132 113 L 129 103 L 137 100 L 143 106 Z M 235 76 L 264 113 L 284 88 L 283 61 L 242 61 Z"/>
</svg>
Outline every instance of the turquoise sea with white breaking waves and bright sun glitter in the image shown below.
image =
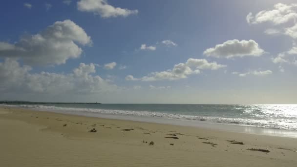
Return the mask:
<svg viewBox="0 0 297 167">
<path fill-rule="evenodd" d="M 14 106 L 60 111 L 161 117 L 297 130 L 297 104 L 15 104 Z"/>
</svg>

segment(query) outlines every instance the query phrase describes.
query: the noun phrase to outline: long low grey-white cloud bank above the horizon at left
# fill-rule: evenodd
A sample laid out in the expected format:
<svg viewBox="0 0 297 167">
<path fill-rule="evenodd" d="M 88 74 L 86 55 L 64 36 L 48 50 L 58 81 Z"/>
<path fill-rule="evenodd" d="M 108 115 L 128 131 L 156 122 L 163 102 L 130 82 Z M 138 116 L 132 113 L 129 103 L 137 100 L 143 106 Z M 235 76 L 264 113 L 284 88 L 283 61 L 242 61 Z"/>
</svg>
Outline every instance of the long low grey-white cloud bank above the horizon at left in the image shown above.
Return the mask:
<svg viewBox="0 0 297 167">
<path fill-rule="evenodd" d="M 70 74 L 29 73 L 32 68 L 5 59 L 0 63 L 0 91 L 15 93 L 99 93 L 118 89 L 98 75 L 95 64 L 80 63 Z"/>
</svg>

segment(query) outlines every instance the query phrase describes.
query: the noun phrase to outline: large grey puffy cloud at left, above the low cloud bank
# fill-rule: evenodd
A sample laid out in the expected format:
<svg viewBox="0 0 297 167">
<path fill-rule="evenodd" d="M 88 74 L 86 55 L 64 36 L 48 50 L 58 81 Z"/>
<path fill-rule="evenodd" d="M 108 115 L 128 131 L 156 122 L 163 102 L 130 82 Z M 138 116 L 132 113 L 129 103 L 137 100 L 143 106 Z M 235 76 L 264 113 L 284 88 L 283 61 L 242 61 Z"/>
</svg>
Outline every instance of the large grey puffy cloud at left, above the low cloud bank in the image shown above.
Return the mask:
<svg viewBox="0 0 297 167">
<path fill-rule="evenodd" d="M 73 21 L 56 21 L 41 33 L 24 35 L 14 44 L 0 42 L 0 57 L 22 58 L 28 64 L 62 64 L 80 57 L 83 50 L 76 43 L 86 45 L 92 41 Z"/>
</svg>

